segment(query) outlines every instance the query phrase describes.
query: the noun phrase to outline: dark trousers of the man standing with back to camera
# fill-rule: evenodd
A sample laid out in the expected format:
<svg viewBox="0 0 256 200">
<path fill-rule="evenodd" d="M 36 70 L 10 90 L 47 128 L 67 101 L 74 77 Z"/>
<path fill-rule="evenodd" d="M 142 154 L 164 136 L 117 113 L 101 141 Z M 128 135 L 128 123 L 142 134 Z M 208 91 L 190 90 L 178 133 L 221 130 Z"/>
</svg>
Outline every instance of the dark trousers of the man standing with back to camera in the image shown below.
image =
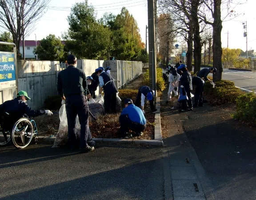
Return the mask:
<svg viewBox="0 0 256 200">
<path fill-rule="evenodd" d="M 89 107 L 84 94 L 67 96 L 65 106 L 68 118 L 68 144 L 74 146 L 76 143 L 76 115 L 78 115 L 81 125 L 80 148 L 94 146 L 95 142 L 88 125 Z"/>
</svg>

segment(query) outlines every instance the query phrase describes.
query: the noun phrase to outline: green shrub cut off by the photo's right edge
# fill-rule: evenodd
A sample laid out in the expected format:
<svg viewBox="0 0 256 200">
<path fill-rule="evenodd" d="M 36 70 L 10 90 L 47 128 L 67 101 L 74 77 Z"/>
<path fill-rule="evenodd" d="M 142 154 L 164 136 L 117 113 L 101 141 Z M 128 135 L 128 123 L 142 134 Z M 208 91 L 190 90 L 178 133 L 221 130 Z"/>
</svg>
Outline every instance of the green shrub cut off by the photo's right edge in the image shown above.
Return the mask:
<svg viewBox="0 0 256 200">
<path fill-rule="evenodd" d="M 254 92 L 244 93 L 236 99 L 235 119 L 256 123 L 256 96 Z"/>
</svg>

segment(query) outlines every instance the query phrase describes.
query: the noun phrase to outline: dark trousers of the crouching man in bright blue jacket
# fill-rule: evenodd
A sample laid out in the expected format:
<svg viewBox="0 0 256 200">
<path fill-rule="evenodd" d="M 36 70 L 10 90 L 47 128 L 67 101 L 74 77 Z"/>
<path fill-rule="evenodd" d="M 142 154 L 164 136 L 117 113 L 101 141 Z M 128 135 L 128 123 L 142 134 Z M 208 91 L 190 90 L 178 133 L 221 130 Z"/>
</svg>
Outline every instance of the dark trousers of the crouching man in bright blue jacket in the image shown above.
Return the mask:
<svg viewBox="0 0 256 200">
<path fill-rule="evenodd" d="M 128 115 L 120 115 L 119 123 L 121 137 L 125 137 L 126 133 L 128 133 L 129 130 L 132 130 L 135 133 L 140 133 L 144 131 L 146 128 L 146 124 L 142 125 L 139 123 L 132 122 L 131 119 L 128 118 Z"/>
</svg>

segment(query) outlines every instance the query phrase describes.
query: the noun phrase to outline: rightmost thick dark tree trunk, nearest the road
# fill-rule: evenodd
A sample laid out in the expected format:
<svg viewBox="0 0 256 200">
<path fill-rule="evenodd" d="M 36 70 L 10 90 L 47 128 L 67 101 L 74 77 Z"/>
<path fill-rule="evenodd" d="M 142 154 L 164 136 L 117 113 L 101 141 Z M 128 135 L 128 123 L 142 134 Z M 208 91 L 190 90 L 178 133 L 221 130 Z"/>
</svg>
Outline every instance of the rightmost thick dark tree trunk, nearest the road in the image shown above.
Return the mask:
<svg viewBox="0 0 256 200">
<path fill-rule="evenodd" d="M 221 47 L 221 30 L 222 30 L 222 21 L 221 21 L 221 0 L 214 0 L 214 21 L 213 21 L 213 41 L 212 41 L 212 52 L 213 52 L 213 67 L 216 67 L 217 72 L 213 75 L 213 81 L 220 81 L 222 78 L 222 47 Z"/>
</svg>

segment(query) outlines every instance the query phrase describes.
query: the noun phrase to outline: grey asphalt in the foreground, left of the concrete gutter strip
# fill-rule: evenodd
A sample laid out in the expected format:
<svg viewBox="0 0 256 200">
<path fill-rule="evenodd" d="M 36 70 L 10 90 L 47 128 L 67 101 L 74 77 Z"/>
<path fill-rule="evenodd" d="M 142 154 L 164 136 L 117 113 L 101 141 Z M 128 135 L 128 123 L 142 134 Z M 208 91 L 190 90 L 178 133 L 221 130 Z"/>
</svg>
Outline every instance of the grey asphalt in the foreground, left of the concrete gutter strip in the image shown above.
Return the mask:
<svg viewBox="0 0 256 200">
<path fill-rule="evenodd" d="M 0 147 L 3 200 L 162 200 L 159 147 L 97 145 L 78 154 L 49 145 Z"/>
</svg>

